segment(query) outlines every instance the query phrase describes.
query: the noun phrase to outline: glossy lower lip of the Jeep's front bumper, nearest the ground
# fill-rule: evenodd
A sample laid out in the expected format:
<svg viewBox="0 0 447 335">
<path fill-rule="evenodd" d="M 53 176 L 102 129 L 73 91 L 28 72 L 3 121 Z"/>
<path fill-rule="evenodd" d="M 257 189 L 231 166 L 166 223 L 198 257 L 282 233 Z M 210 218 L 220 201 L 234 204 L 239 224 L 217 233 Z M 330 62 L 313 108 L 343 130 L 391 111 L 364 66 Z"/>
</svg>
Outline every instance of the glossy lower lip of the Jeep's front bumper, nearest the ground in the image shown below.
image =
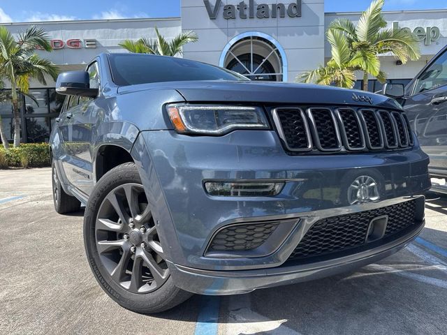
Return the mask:
<svg viewBox="0 0 447 335">
<path fill-rule="evenodd" d="M 168 263 L 168 267 L 175 279 L 175 285 L 189 292 L 200 295 L 248 293 L 259 288 L 290 285 L 333 276 L 377 262 L 404 248 L 418 236 L 424 225 L 425 222 L 420 223 L 412 232 L 378 248 L 307 265 L 249 271 L 207 271 L 173 263 Z"/>
</svg>

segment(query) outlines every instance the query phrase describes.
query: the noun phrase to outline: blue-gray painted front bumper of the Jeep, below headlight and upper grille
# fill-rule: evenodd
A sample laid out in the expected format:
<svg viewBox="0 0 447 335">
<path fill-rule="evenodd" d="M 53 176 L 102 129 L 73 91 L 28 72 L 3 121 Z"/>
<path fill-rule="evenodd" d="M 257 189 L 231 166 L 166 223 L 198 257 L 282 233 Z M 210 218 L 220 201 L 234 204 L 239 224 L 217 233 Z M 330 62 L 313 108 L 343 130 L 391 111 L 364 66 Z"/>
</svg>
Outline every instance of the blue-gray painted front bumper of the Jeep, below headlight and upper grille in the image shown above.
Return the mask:
<svg viewBox="0 0 447 335">
<path fill-rule="evenodd" d="M 284 265 L 305 232 L 321 218 L 397 204 L 430 188 L 428 158 L 418 147 L 386 153 L 288 156 L 274 131 L 234 131 L 222 137 L 143 131 L 131 153 L 149 202 L 154 204 L 160 239 L 177 283 L 184 269 L 218 271 L 218 278 L 219 271 L 258 270 L 264 275 L 266 269 Z M 346 190 L 362 175 L 378 181 L 381 198 L 349 206 Z M 212 197 L 203 188 L 205 180 L 234 179 L 282 180 L 286 186 L 277 196 L 258 198 Z M 296 223 L 272 253 L 205 256 L 210 239 L 224 226 L 272 220 Z"/>
</svg>

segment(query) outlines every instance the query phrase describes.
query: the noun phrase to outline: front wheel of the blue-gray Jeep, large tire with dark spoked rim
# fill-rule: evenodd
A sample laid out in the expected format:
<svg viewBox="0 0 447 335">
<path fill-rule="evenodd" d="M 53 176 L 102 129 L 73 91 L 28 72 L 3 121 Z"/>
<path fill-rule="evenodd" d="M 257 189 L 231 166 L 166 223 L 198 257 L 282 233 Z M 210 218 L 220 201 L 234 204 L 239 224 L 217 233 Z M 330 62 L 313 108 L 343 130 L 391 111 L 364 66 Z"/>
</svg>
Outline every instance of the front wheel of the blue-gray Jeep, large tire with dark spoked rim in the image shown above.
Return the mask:
<svg viewBox="0 0 447 335">
<path fill-rule="evenodd" d="M 191 297 L 169 274 L 134 163 L 110 170 L 94 187 L 85 209 L 84 241 L 96 281 L 124 308 L 159 313 Z"/>
</svg>

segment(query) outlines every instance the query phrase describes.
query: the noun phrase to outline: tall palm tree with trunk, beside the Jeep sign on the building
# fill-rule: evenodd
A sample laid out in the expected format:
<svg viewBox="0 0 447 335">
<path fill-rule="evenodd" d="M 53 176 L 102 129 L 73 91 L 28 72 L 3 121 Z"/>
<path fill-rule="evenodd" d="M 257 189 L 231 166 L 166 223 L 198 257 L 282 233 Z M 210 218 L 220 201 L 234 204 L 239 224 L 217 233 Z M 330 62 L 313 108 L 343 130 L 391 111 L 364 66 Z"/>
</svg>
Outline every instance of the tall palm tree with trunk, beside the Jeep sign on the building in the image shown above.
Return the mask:
<svg viewBox="0 0 447 335">
<path fill-rule="evenodd" d="M 411 59 L 420 58 L 419 43 L 416 36 L 409 29 L 386 29 L 382 8 L 384 0 L 374 0 L 365 10 L 357 25 L 348 19 L 339 18 L 332 21 L 329 31 L 341 31 L 351 50 L 351 65 L 363 72 L 363 90 L 368 89 L 368 75 L 385 82 L 386 73 L 381 71 L 379 54 L 389 52 L 396 59 L 405 64 Z"/>
</svg>

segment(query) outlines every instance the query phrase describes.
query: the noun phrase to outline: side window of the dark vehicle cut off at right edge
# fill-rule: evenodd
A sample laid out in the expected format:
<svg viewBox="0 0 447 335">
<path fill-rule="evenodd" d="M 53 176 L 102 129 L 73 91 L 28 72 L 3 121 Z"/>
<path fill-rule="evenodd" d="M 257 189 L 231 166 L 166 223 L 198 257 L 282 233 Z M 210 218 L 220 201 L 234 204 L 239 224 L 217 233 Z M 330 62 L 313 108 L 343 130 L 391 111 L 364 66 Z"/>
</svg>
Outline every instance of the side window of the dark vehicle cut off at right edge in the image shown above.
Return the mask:
<svg viewBox="0 0 447 335">
<path fill-rule="evenodd" d="M 413 94 L 429 89 L 436 89 L 447 84 L 447 52 L 441 54 L 436 61 L 418 77 Z"/>
</svg>

